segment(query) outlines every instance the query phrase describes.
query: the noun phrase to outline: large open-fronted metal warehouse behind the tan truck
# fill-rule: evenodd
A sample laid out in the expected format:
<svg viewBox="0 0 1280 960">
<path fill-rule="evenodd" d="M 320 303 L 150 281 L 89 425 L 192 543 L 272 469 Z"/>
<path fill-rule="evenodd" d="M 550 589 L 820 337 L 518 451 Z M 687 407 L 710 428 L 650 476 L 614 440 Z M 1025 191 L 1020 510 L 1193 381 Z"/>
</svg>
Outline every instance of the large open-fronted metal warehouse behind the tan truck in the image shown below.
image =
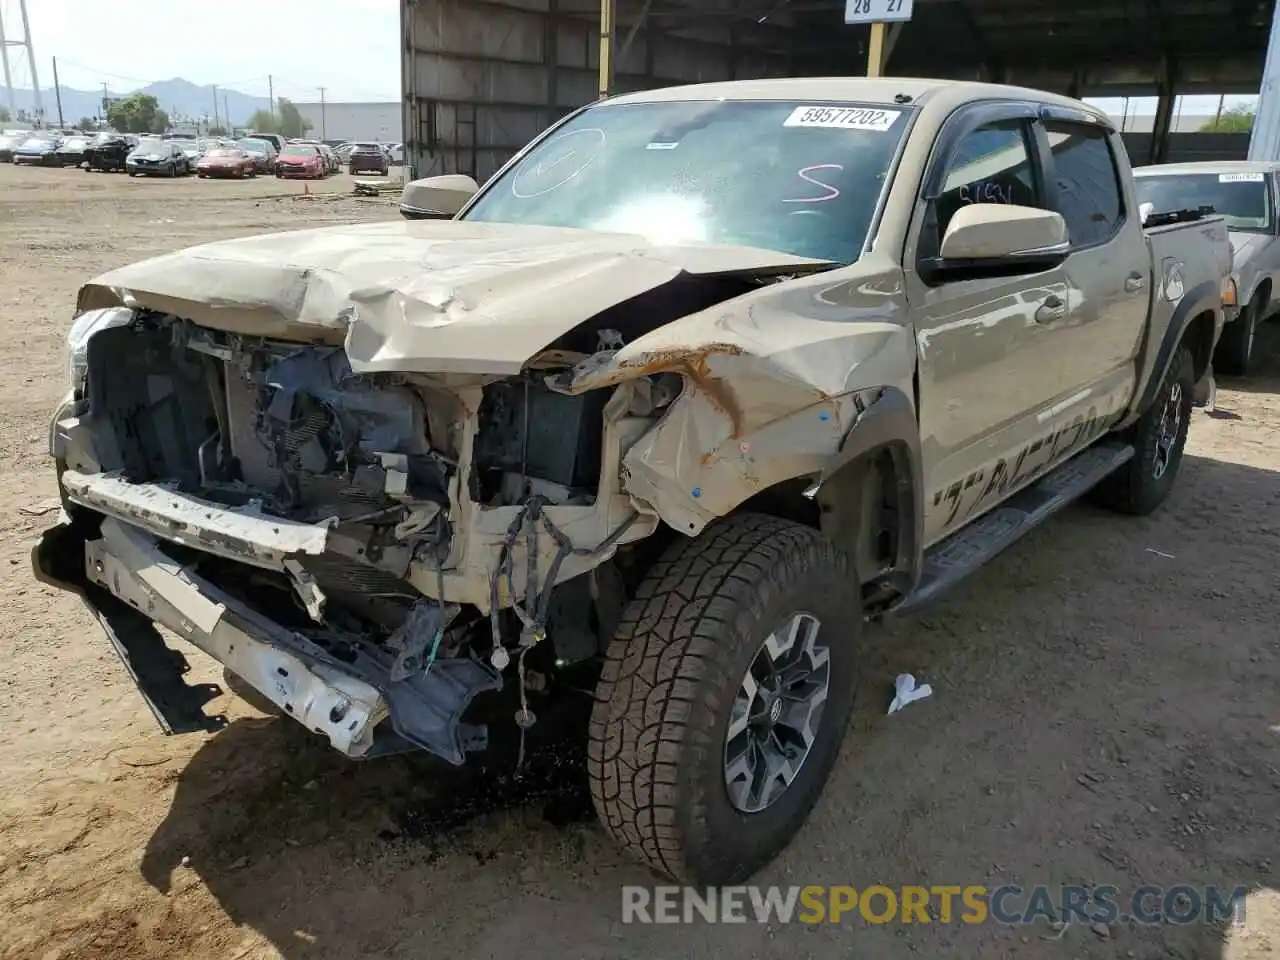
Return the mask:
<svg viewBox="0 0 1280 960">
<path fill-rule="evenodd" d="M 406 160 L 417 177 L 484 179 L 604 91 L 858 76 L 870 45 L 868 27 L 845 26 L 845 0 L 401 4 Z M 1075 96 L 1158 96 L 1151 150 L 1160 159 L 1175 95 L 1258 91 L 1274 8 L 1275 0 L 914 0 L 911 22 L 884 37 L 883 70 Z"/>
</svg>

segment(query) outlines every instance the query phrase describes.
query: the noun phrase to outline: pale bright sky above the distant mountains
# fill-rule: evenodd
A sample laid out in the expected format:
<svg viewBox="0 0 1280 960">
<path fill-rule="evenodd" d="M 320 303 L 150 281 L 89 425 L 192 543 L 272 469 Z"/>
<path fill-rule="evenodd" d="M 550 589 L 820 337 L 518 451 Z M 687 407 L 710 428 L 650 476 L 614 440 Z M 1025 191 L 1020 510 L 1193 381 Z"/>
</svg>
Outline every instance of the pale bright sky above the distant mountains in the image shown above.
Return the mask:
<svg viewBox="0 0 1280 960">
<path fill-rule="evenodd" d="M 22 37 L 18 0 L 0 0 Z M 399 99 L 398 0 L 27 0 L 41 87 L 119 92 L 182 77 L 293 100 Z M 13 83 L 29 87 L 20 50 Z"/>
</svg>

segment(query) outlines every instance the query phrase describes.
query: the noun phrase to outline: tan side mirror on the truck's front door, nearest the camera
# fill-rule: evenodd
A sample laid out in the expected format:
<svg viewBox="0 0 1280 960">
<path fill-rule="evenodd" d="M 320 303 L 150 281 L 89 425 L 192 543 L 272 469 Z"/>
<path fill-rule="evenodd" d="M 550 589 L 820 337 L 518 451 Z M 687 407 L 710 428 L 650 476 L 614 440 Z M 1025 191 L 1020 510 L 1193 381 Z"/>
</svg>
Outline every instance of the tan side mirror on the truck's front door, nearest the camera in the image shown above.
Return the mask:
<svg viewBox="0 0 1280 960">
<path fill-rule="evenodd" d="M 1015 204 L 960 207 L 929 269 L 938 279 L 1016 276 L 1059 266 L 1071 244 L 1061 214 Z"/>
</svg>

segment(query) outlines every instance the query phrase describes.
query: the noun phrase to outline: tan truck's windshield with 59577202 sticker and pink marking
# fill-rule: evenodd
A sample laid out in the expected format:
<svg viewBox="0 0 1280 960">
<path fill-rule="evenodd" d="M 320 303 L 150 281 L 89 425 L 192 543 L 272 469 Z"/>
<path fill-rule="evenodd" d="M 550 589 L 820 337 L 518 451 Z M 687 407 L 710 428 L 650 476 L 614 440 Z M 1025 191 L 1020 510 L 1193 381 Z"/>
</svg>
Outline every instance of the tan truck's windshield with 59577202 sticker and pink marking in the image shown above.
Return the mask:
<svg viewBox="0 0 1280 960">
<path fill-rule="evenodd" d="M 465 219 L 849 264 L 861 253 L 906 114 L 867 104 L 605 104 L 538 143 Z"/>
</svg>

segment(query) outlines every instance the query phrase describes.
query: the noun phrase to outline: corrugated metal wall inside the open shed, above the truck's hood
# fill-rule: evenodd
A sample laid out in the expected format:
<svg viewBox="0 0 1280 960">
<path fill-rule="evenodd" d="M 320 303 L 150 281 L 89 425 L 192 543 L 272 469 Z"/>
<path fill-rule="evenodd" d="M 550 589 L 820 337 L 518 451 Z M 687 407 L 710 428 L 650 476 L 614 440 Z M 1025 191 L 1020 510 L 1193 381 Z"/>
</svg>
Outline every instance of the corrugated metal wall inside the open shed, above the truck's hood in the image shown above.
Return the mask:
<svg viewBox="0 0 1280 960">
<path fill-rule="evenodd" d="M 490 177 L 570 110 L 596 99 L 599 19 L 593 0 L 402 0 L 406 160 L 415 177 Z M 567 13 L 573 10 L 575 13 Z M 727 28 L 682 36 L 646 28 L 623 50 L 617 92 L 703 81 L 786 76 L 777 54 L 731 44 Z"/>
</svg>

